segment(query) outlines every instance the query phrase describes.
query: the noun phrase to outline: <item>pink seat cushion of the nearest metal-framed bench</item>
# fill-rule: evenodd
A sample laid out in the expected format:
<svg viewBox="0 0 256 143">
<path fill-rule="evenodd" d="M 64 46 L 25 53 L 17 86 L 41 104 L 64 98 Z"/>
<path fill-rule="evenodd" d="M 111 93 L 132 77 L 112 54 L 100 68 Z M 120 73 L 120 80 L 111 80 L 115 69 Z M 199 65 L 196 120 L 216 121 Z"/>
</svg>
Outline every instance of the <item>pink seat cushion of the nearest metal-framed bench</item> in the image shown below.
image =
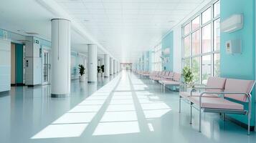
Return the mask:
<svg viewBox="0 0 256 143">
<path fill-rule="evenodd" d="M 199 105 L 199 97 L 189 97 L 190 101 L 194 104 Z M 244 106 L 242 104 L 238 104 L 235 102 L 230 102 L 227 99 L 223 99 L 221 97 L 202 97 L 202 104 L 201 107 L 203 108 L 212 108 L 212 109 L 237 109 L 243 110 Z"/>
</svg>

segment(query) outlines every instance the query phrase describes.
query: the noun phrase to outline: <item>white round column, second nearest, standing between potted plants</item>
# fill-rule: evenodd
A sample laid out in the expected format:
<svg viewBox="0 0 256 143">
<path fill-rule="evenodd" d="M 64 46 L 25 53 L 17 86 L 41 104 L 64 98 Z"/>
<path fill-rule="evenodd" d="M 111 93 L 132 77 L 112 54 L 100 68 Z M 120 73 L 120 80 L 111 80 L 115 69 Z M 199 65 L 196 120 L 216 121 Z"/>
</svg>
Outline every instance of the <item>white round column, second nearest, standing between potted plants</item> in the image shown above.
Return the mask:
<svg viewBox="0 0 256 143">
<path fill-rule="evenodd" d="M 97 82 L 97 46 L 88 44 L 88 82 Z"/>
</svg>

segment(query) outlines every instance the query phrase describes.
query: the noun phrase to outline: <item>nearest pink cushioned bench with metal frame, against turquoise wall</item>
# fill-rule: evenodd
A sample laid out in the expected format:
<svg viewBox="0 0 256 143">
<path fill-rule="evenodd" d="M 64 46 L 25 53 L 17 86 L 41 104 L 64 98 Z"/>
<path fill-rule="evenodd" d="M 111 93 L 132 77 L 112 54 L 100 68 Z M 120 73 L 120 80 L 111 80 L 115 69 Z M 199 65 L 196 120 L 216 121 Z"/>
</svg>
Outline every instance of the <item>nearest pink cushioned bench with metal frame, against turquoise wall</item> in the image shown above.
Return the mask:
<svg viewBox="0 0 256 143">
<path fill-rule="evenodd" d="M 201 132 L 202 112 L 222 113 L 224 119 L 225 114 L 245 114 L 247 115 L 247 134 L 249 135 L 252 115 L 251 92 L 254 85 L 255 81 L 253 80 L 209 77 L 206 85 L 197 84 L 192 86 L 190 92 L 179 92 L 179 112 L 181 112 L 181 99 L 183 99 L 190 104 L 191 123 L 192 107 L 198 109 L 199 132 Z M 182 86 L 187 85 L 183 84 Z"/>
</svg>

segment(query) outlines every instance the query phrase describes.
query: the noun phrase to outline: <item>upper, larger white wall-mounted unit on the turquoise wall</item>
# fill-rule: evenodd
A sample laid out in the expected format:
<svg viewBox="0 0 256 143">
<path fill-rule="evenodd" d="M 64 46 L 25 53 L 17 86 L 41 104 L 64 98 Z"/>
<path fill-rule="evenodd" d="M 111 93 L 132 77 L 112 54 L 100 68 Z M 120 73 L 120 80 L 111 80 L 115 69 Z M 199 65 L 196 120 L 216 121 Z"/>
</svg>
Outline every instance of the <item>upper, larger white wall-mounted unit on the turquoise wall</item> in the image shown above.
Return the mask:
<svg viewBox="0 0 256 143">
<path fill-rule="evenodd" d="M 234 14 L 229 18 L 222 21 L 220 24 L 220 29 L 222 32 L 231 33 L 242 29 L 243 26 L 243 14 Z"/>
</svg>

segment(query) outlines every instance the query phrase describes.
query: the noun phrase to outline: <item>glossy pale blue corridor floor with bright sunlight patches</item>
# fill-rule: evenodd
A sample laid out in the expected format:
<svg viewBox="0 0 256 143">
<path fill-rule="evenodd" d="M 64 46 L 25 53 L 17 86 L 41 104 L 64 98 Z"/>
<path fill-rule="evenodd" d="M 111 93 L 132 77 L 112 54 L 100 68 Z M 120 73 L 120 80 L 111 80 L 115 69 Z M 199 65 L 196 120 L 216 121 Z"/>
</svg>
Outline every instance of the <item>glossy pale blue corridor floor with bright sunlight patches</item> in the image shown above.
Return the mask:
<svg viewBox="0 0 256 143">
<path fill-rule="evenodd" d="M 100 88 L 101 87 L 101 88 Z M 97 90 L 98 89 L 98 90 Z M 178 112 L 178 92 L 123 71 L 97 84 L 72 82 L 70 97 L 49 97 L 49 86 L 14 87 L 0 97 L 3 142 L 255 142 L 256 134 L 218 114 L 198 112 L 189 124 L 189 105 Z M 97 90 L 97 91 L 96 91 Z M 90 96 L 89 96 L 90 95 Z M 195 140 L 196 139 L 196 140 Z"/>
</svg>

